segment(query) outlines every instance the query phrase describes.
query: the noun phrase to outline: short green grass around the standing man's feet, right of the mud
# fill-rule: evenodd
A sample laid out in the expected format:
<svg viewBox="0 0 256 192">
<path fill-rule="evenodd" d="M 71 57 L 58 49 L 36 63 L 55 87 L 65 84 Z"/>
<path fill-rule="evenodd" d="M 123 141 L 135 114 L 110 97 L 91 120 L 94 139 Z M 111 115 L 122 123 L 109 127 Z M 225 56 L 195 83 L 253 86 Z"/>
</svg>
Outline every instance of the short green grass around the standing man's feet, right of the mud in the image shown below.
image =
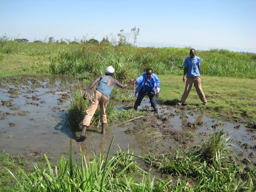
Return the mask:
<svg viewBox="0 0 256 192">
<path fill-rule="evenodd" d="M 161 102 L 176 105 L 184 92 L 182 76 L 160 75 Z M 213 118 L 256 124 L 256 82 L 247 78 L 201 76 L 202 89 L 208 106 L 199 99 L 194 86 L 186 100 L 185 108 Z"/>
</svg>

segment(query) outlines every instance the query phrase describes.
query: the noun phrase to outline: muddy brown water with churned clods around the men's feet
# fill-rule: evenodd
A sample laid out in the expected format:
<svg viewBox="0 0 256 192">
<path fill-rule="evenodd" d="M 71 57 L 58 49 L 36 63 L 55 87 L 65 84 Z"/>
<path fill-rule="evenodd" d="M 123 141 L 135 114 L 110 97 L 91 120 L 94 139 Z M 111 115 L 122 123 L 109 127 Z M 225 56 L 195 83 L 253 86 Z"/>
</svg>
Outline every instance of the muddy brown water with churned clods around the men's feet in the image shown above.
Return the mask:
<svg viewBox="0 0 256 192">
<path fill-rule="evenodd" d="M 76 80 L 68 77 L 30 78 L 16 82 L 2 82 L 0 89 L 0 150 L 10 154 L 24 154 L 33 162 L 44 160 L 43 154 L 52 162 L 60 156 L 68 156 L 70 138 L 73 156 L 79 158 L 80 145 L 88 160 L 94 151 L 106 153 L 112 136 L 115 136 L 112 154 L 119 149 L 134 150 L 142 155 L 150 151 L 160 153 L 170 151 L 178 145 L 191 147 L 212 134 L 212 129 L 220 127 L 220 120 L 194 114 L 173 106 L 161 105 L 159 113 L 149 108 L 148 99 L 138 110 L 148 113 L 148 118 L 128 122 L 121 126 L 109 124 L 106 134 L 101 128 L 86 131 L 87 139 L 77 143 L 81 129 L 70 128 L 65 123 L 65 113 L 69 104 L 69 90 Z M 118 109 L 124 108 L 117 106 Z M 256 162 L 256 132 L 244 125 L 222 122 L 224 132 L 230 132 L 232 144 L 236 146 L 241 160 L 249 158 Z"/>
</svg>

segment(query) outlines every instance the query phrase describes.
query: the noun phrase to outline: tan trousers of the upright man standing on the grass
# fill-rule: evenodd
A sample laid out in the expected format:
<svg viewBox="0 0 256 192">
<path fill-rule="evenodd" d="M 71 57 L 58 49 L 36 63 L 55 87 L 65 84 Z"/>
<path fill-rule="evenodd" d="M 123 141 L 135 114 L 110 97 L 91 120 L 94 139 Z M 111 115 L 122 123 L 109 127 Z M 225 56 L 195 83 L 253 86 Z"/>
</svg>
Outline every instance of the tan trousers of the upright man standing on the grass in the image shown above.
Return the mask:
<svg viewBox="0 0 256 192">
<path fill-rule="evenodd" d="M 204 92 L 202 90 L 202 86 L 201 86 L 201 79 L 200 76 L 196 76 L 196 77 L 188 77 L 186 80 L 186 86 L 185 86 L 185 90 L 184 93 L 181 97 L 181 102 L 185 103 L 186 98 L 188 97 L 188 94 L 192 88 L 192 84 L 194 83 L 194 87 L 196 88 L 196 92 L 200 98 L 200 100 L 202 102 L 207 102 L 205 96 L 204 96 Z"/>
</svg>

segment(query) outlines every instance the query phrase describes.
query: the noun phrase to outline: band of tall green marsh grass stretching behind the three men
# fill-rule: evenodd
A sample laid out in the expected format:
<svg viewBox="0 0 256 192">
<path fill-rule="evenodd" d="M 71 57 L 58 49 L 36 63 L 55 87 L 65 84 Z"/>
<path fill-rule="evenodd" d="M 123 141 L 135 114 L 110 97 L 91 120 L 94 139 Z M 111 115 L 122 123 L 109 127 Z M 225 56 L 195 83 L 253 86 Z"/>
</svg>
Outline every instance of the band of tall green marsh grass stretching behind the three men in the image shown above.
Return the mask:
<svg viewBox="0 0 256 192">
<path fill-rule="evenodd" d="M 157 74 L 182 74 L 189 49 L 0 42 L 0 60 L 3 63 L 10 55 L 30 56 L 33 62 L 21 64 L 20 71 L 51 74 L 99 74 L 112 65 L 116 78 L 125 82 L 147 67 Z M 197 51 L 197 56 L 206 75 L 256 77 L 256 54 L 209 50 Z"/>
</svg>

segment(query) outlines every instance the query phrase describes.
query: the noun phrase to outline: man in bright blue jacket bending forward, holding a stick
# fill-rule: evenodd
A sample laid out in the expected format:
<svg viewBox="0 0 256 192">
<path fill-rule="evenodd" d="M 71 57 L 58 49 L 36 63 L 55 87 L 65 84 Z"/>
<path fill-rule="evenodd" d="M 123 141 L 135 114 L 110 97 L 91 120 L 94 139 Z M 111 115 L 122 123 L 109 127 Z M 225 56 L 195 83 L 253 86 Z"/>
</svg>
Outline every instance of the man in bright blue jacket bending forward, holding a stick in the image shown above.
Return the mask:
<svg viewBox="0 0 256 192">
<path fill-rule="evenodd" d="M 131 82 L 134 82 L 135 79 L 131 79 Z M 139 84 L 136 88 L 135 95 L 138 94 L 138 98 L 136 99 L 136 102 L 134 104 L 134 110 L 137 110 L 138 106 L 140 106 L 140 103 L 144 96 L 148 93 L 148 97 L 151 103 L 151 106 L 154 109 L 154 112 L 158 112 L 158 109 L 156 107 L 156 101 L 155 101 L 155 92 L 154 89 L 156 89 L 156 92 L 159 92 L 159 86 L 160 81 L 156 74 L 153 73 L 152 68 L 146 69 L 146 73 L 142 74 L 135 80 L 136 84 Z"/>
</svg>

